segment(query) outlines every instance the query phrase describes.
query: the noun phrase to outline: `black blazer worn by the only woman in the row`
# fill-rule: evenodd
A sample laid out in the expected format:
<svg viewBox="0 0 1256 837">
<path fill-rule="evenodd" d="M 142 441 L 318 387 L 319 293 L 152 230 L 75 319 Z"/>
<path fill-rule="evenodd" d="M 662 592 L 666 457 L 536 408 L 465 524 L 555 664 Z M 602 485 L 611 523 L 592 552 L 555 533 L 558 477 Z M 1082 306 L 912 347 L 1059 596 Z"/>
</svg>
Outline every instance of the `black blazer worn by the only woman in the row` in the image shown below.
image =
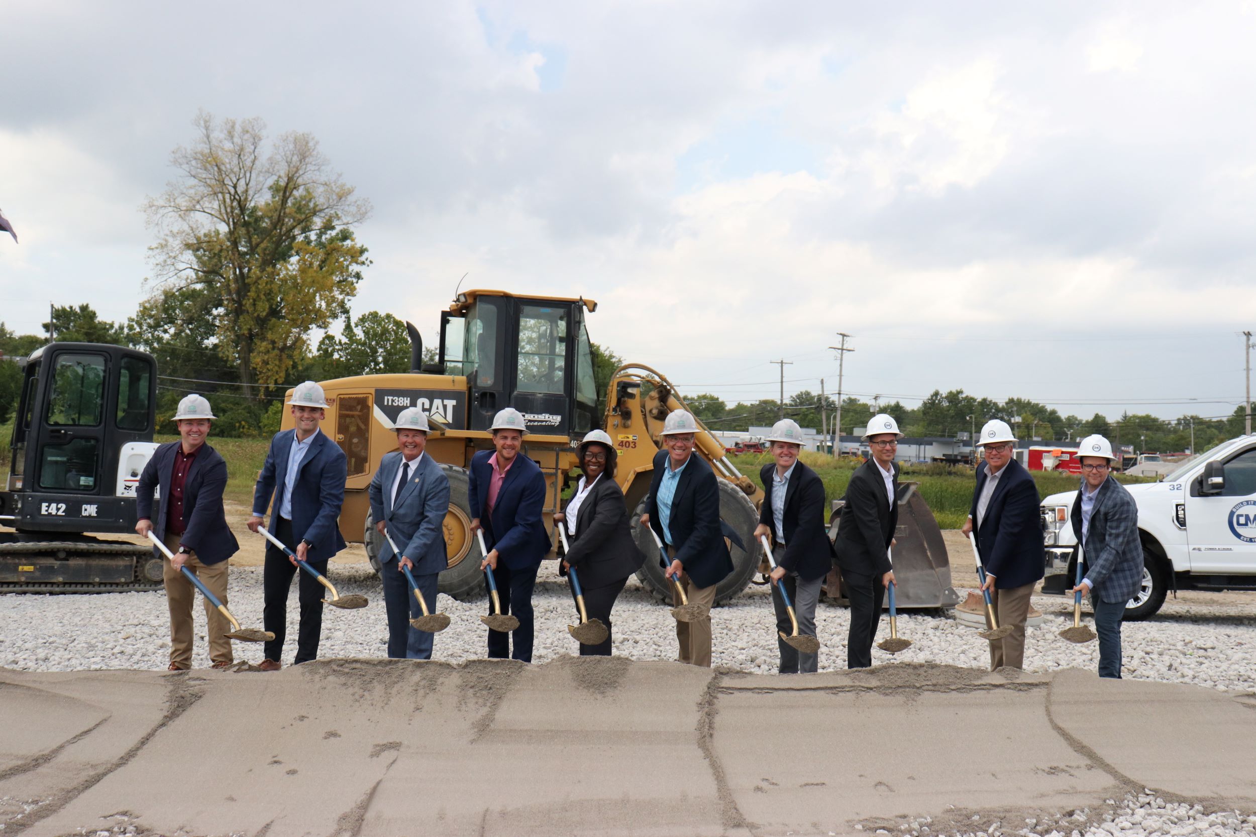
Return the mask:
<svg viewBox="0 0 1256 837">
<path fill-rule="evenodd" d="M 566 526 L 566 522 L 559 526 Z M 624 493 L 614 478 L 605 473 L 577 509 L 575 535 L 568 540 L 571 551 L 564 558 L 580 571 L 580 586 L 589 590 L 627 578 L 646 562 L 646 556 L 637 548 L 628 528 Z M 561 565 L 559 571 L 565 575 Z"/>
</svg>

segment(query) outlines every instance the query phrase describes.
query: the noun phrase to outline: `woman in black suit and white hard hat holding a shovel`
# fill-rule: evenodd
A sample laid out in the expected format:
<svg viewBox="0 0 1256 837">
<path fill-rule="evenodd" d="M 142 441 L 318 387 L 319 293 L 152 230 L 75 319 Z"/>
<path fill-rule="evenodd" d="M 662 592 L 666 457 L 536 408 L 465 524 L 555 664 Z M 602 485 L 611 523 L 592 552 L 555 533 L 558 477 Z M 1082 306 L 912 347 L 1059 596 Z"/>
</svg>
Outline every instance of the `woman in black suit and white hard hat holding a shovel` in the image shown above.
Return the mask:
<svg viewBox="0 0 1256 837">
<path fill-rule="evenodd" d="M 607 626 L 607 639 L 598 645 L 580 645 L 580 656 L 610 656 L 610 609 L 637 572 L 646 556 L 637 548 L 628 528 L 628 508 L 615 482 L 615 448 L 603 430 L 590 430 L 577 448 L 580 471 L 575 494 L 554 522 L 566 527 L 571 551 L 563 556 L 559 575 L 575 567 L 584 591 L 589 619 Z M 575 599 L 575 590 L 571 590 Z"/>
</svg>

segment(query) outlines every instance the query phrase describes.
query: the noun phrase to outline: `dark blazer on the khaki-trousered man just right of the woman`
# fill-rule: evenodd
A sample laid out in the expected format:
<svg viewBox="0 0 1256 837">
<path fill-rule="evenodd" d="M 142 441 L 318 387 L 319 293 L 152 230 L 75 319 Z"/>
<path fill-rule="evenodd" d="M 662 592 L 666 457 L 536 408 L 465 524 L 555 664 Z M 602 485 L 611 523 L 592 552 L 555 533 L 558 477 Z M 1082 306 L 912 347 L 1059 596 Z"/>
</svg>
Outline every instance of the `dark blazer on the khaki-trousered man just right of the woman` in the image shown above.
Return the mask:
<svg viewBox="0 0 1256 837">
<path fill-rule="evenodd" d="M 658 518 L 658 486 L 663 482 L 667 459 L 667 450 L 654 454 L 654 476 L 646 497 L 649 527 L 663 543 L 667 543 L 667 538 L 663 537 L 663 523 Z M 676 560 L 683 565 L 695 585 L 710 587 L 732 572 L 732 556 L 728 555 L 720 526 L 720 487 L 711 466 L 697 452 L 690 454 L 681 473 L 667 523 L 672 532 L 672 546 L 676 547 Z M 671 563 L 667 556 L 659 556 L 659 560 L 664 567 Z"/>
</svg>

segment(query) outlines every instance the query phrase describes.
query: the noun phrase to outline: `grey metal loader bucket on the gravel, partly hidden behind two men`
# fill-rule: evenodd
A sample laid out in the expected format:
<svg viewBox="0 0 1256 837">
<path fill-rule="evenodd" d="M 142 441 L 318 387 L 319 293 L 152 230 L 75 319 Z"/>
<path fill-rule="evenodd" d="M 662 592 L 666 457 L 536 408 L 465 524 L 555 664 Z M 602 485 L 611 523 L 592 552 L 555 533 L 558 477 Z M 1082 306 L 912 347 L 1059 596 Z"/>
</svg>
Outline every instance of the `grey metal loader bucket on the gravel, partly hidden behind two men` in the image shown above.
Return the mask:
<svg viewBox="0 0 1256 837">
<path fill-rule="evenodd" d="M 951 586 L 951 560 L 942 530 L 928 503 L 921 497 L 919 483 L 898 483 L 898 528 L 894 531 L 894 585 L 899 610 L 914 607 L 955 607 L 960 596 Z M 833 501 L 829 537 L 836 540 L 843 499 Z M 840 590 L 836 568 L 824 581 L 824 592 L 848 604 Z"/>
</svg>

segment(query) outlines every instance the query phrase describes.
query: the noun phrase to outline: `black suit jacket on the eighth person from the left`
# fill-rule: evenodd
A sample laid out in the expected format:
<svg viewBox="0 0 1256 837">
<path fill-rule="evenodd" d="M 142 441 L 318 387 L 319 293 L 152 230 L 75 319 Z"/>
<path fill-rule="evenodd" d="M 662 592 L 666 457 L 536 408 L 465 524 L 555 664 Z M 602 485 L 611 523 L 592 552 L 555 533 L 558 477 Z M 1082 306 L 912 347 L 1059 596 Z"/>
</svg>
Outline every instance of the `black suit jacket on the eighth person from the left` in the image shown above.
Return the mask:
<svg viewBox="0 0 1256 837">
<path fill-rule="evenodd" d="M 885 496 L 885 478 L 875 461 L 869 459 L 850 474 L 847 503 L 842 507 L 842 518 L 838 521 L 838 565 L 843 572 L 883 576 L 893 568 L 889 563 L 889 542 L 898 526 L 897 462 L 893 468 L 893 503 Z"/>
</svg>

